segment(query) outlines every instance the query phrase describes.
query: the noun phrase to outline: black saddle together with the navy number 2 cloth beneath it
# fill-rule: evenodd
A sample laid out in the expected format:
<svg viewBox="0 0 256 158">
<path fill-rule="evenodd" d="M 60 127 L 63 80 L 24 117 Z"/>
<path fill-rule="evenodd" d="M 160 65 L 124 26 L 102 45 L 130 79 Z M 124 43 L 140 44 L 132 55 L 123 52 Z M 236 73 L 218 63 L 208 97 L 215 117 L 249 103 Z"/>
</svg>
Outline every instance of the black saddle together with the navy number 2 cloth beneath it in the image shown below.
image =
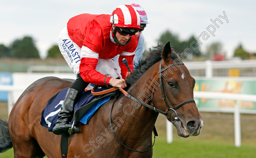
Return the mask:
<svg viewBox="0 0 256 158">
<path fill-rule="evenodd" d="M 40 124 L 48 128 L 48 131 L 52 132 L 56 121 L 58 120 L 58 114 L 61 109 L 62 103 L 65 99 L 66 93 L 69 88 L 65 88 L 55 94 L 45 106 L 41 113 Z M 94 88 L 95 91 L 99 92 L 102 90 L 107 90 L 107 88 Z M 91 94 L 91 90 L 84 91 L 80 100 L 74 106 L 73 119 L 69 124 L 77 124 L 79 121 L 87 124 L 88 120 L 97 111 L 97 109 L 106 101 L 110 99 L 110 96 L 114 95 L 115 92 L 108 94 L 102 94 L 94 96 Z"/>
</svg>

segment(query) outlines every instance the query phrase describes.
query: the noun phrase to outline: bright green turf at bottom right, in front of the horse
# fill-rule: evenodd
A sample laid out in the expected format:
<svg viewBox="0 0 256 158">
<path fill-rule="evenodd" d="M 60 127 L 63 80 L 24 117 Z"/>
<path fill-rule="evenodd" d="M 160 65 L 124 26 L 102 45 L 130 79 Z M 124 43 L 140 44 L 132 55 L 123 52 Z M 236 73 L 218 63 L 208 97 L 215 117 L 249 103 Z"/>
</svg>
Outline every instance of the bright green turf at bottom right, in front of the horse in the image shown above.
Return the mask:
<svg viewBox="0 0 256 158">
<path fill-rule="evenodd" d="M 171 144 L 165 137 L 158 137 L 153 147 L 153 158 L 253 158 L 256 145 L 242 145 L 240 148 L 233 143 L 195 141 L 193 139 L 176 138 Z"/>
</svg>

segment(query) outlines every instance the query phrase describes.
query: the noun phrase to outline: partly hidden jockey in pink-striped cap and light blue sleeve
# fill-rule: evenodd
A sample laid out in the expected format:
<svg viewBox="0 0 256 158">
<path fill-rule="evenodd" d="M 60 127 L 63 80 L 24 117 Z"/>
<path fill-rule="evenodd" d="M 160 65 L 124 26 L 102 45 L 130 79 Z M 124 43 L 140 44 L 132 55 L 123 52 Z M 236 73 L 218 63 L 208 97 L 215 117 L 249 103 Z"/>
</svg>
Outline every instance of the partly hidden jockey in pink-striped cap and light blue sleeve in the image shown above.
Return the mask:
<svg viewBox="0 0 256 158">
<path fill-rule="evenodd" d="M 134 4 L 134 3 L 131 5 L 135 9 L 137 9 L 137 11 L 140 14 L 140 27 L 142 28 L 136 33 L 136 36 L 138 38 L 138 46 L 135 51 L 135 56 L 133 58 L 133 66 L 134 66 L 134 68 L 136 68 L 139 65 L 142 55 L 145 51 L 145 41 L 144 41 L 144 36 L 141 31 L 144 30 L 144 28 L 146 27 L 146 25 L 148 23 L 148 16 L 147 16 L 146 12 L 144 11 L 144 9 L 140 5 Z"/>
</svg>

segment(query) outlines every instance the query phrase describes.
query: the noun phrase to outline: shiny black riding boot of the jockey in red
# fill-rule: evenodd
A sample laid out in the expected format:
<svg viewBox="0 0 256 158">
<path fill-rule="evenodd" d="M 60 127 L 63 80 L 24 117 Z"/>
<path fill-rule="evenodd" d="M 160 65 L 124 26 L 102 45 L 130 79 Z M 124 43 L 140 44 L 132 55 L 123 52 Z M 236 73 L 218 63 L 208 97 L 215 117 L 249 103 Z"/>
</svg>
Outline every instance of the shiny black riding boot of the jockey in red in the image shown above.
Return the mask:
<svg viewBox="0 0 256 158">
<path fill-rule="evenodd" d="M 80 97 L 81 97 L 81 93 L 79 91 L 73 88 L 69 88 L 66 98 L 64 99 L 64 102 L 60 109 L 58 121 L 56 122 L 56 125 L 52 130 L 54 134 L 60 135 L 63 132 L 68 132 L 69 128 L 72 127 L 72 125 L 69 124 L 68 120 L 69 120 L 69 117 L 71 116 L 71 112 L 73 111 L 74 105 L 80 99 Z M 73 129 L 74 129 L 73 133 L 79 132 L 78 127 L 74 126 Z"/>
</svg>

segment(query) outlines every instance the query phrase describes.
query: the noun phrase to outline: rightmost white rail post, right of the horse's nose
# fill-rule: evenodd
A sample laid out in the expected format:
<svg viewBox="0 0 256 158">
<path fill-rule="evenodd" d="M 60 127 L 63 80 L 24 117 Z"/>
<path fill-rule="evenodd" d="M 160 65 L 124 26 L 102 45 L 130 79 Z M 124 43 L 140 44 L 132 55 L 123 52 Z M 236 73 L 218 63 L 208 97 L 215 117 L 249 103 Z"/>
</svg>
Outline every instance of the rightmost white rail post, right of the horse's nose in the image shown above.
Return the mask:
<svg viewBox="0 0 256 158">
<path fill-rule="evenodd" d="M 240 111 L 238 101 L 235 102 L 234 111 L 234 129 L 235 129 L 235 146 L 241 146 L 241 123 L 240 123 Z"/>
</svg>

